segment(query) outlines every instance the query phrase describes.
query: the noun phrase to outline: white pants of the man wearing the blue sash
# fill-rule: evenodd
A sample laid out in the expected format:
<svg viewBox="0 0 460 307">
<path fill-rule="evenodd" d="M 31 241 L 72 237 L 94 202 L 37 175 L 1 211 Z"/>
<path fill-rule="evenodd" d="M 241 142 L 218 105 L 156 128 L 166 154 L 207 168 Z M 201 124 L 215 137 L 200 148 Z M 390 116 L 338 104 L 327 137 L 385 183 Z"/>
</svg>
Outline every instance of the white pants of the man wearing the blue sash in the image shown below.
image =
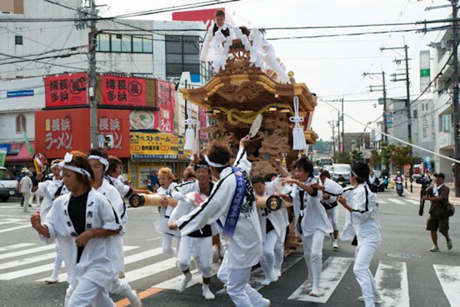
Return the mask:
<svg viewBox="0 0 460 307">
<path fill-rule="evenodd" d="M 227 293 L 237 307 L 265 307 L 267 301 L 249 285 L 251 267 L 244 269 L 229 269 L 224 256 L 217 277 L 227 285 Z"/>
</svg>

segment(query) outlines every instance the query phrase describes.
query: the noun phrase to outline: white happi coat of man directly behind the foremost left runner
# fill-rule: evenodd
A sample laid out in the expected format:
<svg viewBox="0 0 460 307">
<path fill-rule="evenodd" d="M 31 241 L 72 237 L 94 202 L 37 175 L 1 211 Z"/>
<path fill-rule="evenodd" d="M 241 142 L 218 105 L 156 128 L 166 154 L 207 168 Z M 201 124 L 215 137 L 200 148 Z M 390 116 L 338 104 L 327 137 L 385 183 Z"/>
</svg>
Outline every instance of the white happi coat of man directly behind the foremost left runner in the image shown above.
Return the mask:
<svg viewBox="0 0 460 307">
<path fill-rule="evenodd" d="M 125 226 L 128 223 L 128 217 L 125 209 L 125 202 L 121 198 L 120 193 L 117 189 L 112 186 L 108 180 L 102 178 L 102 184 L 96 192 L 101 193 L 110 202 L 113 209 L 117 211 L 118 216 L 121 220 L 121 225 Z M 123 217 L 122 217 L 123 216 Z M 113 246 L 116 250 L 116 259 L 118 270 L 123 272 L 125 270 L 125 254 L 123 252 L 123 237 L 120 235 L 114 235 L 110 237 Z"/>
</svg>

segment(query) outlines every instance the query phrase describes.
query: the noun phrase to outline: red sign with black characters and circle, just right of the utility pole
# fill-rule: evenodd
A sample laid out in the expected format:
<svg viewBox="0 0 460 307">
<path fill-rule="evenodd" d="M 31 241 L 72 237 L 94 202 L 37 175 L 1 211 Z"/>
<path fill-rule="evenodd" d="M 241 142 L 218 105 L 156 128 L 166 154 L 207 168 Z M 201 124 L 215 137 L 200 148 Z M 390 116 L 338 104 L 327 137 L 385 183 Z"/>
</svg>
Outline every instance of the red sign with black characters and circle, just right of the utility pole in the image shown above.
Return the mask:
<svg viewBox="0 0 460 307">
<path fill-rule="evenodd" d="M 146 106 L 146 80 L 102 76 L 102 104 Z"/>
</svg>

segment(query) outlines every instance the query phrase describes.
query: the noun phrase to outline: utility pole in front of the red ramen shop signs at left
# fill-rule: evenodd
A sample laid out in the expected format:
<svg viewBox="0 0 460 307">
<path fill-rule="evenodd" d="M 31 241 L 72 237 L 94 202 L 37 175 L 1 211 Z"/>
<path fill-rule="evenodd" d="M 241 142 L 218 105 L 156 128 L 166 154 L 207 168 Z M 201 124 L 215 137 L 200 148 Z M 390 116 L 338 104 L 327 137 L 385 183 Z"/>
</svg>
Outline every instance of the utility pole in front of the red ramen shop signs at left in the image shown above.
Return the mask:
<svg viewBox="0 0 460 307">
<path fill-rule="evenodd" d="M 90 134 L 91 134 L 91 147 L 98 147 L 98 136 L 97 131 L 97 97 L 96 97 L 96 43 L 97 43 L 97 31 L 96 31 L 96 18 L 97 10 L 95 0 L 90 0 L 90 16 L 91 16 L 91 31 L 89 34 L 89 46 L 90 46 Z"/>
</svg>

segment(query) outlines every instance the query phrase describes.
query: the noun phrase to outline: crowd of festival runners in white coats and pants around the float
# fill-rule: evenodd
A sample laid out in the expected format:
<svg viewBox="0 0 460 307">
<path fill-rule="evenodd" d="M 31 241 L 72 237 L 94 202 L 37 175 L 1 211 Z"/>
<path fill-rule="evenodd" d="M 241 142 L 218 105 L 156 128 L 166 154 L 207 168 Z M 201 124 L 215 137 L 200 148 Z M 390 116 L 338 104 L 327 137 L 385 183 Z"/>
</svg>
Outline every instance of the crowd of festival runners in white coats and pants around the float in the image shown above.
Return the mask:
<svg viewBox="0 0 460 307">
<path fill-rule="evenodd" d="M 265 274 L 262 285 L 277 281 L 288 225 L 294 219 L 307 265 L 309 294 L 320 296 L 323 242 L 331 236 L 332 248 L 339 248 L 341 205 L 347 213 L 340 238 L 356 245 L 353 272 L 362 290 L 358 299 L 374 306 L 380 295 L 369 265 L 382 237 L 378 200 L 367 184 L 369 166 L 361 162 L 352 166 L 348 188 L 331 180 L 327 171 L 316 181 L 313 164 L 306 157 L 294 161 L 291 173 L 276 160 L 278 173 L 262 178 L 252 176 L 245 151 L 249 142 L 249 136 L 240 140 L 236 156 L 222 145 L 208 147 L 187 167 L 181 184 L 173 182 L 169 168 L 157 173 L 156 193 L 163 196 L 154 227 L 163 235 L 163 252 L 177 258 L 183 274 L 178 291 L 184 291 L 192 279 L 193 258 L 202 275 L 204 299 L 215 299 L 209 283 L 213 262 L 221 261 L 217 277 L 236 306 L 269 306 L 270 301 L 249 284 L 251 269 L 260 264 Z M 52 161 L 52 180 L 42 181 L 41 173 L 31 178 L 30 191 L 43 197 L 41 210 L 31 216 L 32 226 L 46 244 L 57 239 L 55 269 L 45 282 L 57 282 L 64 260 L 69 283 L 65 306 L 115 306 L 110 293 L 127 297 L 131 306 L 142 306 L 137 291 L 123 279 L 125 199 L 133 193 L 152 192 L 135 190 L 117 179 L 121 166 L 118 158 L 103 149 L 91 149 L 88 154 L 74 151 Z M 271 195 L 292 203 L 293 210 L 256 207 L 258 197 Z M 169 198 L 177 200 L 177 206 L 168 205 Z"/>
</svg>

